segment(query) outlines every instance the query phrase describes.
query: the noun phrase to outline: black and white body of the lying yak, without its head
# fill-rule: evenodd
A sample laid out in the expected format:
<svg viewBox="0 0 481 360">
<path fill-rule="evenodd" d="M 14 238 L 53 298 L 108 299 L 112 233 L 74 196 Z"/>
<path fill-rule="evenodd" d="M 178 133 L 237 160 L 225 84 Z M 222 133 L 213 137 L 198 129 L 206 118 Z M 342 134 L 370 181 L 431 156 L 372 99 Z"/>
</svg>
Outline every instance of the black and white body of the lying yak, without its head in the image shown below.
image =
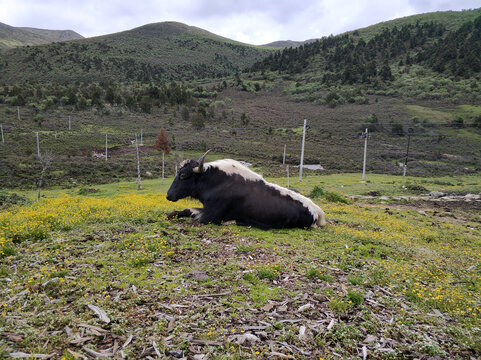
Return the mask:
<svg viewBox="0 0 481 360">
<path fill-rule="evenodd" d="M 264 229 L 310 227 L 322 213 L 310 199 L 266 182 L 235 160 L 205 164 L 199 180 L 203 212 L 215 214 L 215 223 L 235 220 Z"/>
</svg>

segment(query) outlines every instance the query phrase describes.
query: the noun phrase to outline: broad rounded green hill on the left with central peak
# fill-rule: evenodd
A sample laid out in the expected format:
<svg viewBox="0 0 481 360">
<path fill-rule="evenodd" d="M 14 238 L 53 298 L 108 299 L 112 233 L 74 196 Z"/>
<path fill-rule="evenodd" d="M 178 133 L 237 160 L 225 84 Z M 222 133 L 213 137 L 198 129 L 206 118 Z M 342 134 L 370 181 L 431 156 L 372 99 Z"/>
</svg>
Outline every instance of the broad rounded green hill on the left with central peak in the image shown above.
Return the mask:
<svg viewBox="0 0 481 360">
<path fill-rule="evenodd" d="M 272 50 L 178 22 L 4 52 L 0 81 L 191 80 L 241 72 Z"/>
</svg>

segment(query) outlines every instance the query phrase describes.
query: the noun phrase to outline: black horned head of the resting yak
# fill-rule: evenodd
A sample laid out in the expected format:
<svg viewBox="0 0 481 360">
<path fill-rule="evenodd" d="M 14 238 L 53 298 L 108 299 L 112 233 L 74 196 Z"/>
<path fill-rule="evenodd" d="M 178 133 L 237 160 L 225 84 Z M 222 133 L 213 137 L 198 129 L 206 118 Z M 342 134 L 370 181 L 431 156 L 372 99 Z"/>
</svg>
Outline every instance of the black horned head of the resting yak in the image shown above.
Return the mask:
<svg viewBox="0 0 481 360">
<path fill-rule="evenodd" d="M 167 200 L 177 201 L 188 196 L 196 197 L 196 183 L 204 173 L 204 160 L 210 150 L 200 157 L 199 160 L 184 161 L 167 191 Z"/>
</svg>

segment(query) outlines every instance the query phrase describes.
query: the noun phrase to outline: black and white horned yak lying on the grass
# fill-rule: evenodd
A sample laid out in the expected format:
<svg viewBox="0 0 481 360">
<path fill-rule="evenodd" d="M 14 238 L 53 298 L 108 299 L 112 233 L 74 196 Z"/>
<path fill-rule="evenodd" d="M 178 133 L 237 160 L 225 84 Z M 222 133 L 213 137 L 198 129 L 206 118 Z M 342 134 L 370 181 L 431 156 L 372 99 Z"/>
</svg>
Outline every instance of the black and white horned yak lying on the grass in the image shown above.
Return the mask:
<svg viewBox="0 0 481 360">
<path fill-rule="evenodd" d="M 238 161 L 224 159 L 204 164 L 209 151 L 197 161 L 185 160 L 167 192 L 167 200 L 190 196 L 204 207 L 174 211 L 169 218 L 192 217 L 202 224 L 235 221 L 261 229 L 326 224 L 324 212 L 310 199 L 265 181 Z"/>
</svg>

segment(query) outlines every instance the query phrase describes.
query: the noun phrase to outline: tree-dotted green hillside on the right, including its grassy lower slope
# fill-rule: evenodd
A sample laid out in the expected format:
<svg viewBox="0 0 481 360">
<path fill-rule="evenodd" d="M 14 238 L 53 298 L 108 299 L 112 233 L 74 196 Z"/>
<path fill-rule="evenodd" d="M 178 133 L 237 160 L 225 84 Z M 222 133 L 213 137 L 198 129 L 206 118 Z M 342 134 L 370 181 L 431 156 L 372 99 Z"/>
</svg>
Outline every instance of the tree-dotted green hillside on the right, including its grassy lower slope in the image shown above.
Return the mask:
<svg viewBox="0 0 481 360">
<path fill-rule="evenodd" d="M 480 14 L 479 9 L 433 13 L 432 18 L 423 14 L 329 36 L 271 54 L 252 71 L 288 74 L 297 82 L 291 89 L 297 99 L 331 106 L 346 100 L 338 87 L 410 99 L 477 102 Z"/>
</svg>

